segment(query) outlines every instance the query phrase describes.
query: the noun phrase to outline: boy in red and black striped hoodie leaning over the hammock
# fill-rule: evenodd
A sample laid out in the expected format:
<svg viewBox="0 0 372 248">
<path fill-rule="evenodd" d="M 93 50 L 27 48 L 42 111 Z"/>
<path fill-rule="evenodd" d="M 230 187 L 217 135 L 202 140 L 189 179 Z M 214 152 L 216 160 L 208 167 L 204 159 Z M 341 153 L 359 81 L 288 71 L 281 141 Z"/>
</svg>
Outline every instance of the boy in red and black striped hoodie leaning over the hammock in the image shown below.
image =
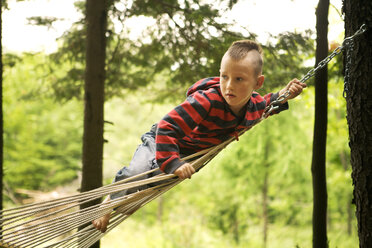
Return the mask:
<svg viewBox="0 0 372 248">
<path fill-rule="evenodd" d="M 261 97 L 254 91 L 263 85 L 262 67 L 260 45 L 249 40 L 234 42 L 221 60 L 220 77 L 202 79 L 191 86 L 187 99 L 141 137 L 143 144 L 114 181 L 157 167 L 180 179 L 191 178 L 195 169 L 181 157 L 237 137 L 239 131 L 253 126 L 266 106 L 279 95 L 289 90 L 288 99 L 292 99 L 306 87 L 305 83 L 293 79 L 278 93 Z M 288 109 L 287 99 L 281 102 L 276 113 L 285 109 Z M 111 198 L 127 193 L 130 192 L 116 193 Z M 109 200 L 110 197 L 105 201 Z M 109 218 L 107 214 L 93 221 L 93 225 L 105 232 Z"/>
</svg>

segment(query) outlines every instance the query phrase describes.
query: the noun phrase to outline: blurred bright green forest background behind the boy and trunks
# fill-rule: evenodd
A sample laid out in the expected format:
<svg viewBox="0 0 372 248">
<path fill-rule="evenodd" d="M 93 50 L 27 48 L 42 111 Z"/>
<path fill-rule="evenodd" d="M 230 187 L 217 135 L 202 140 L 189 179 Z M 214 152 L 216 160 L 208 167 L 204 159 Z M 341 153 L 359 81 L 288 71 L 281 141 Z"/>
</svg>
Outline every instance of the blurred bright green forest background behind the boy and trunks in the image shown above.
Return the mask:
<svg viewBox="0 0 372 248">
<path fill-rule="evenodd" d="M 278 90 L 312 66 L 313 39 L 311 31 L 286 32 L 263 44 L 268 80 L 260 93 Z M 224 45 L 229 41 L 224 40 Z M 78 85 L 71 82 L 78 84 L 82 65 L 58 56 L 61 53 L 4 54 L 5 207 L 28 202 L 35 192 L 78 190 L 84 110 Z M 119 64 L 112 62 L 107 66 Z M 138 65 L 130 68 L 127 74 L 133 78 L 143 73 Z M 357 247 L 341 58 L 329 68 L 328 238 L 330 247 Z M 119 90 L 114 85 L 108 91 L 106 184 L 129 163 L 140 135 L 179 103 L 193 83 L 177 85 L 171 94 L 167 77 L 162 73 L 143 87 L 128 84 L 126 90 Z M 102 246 L 310 247 L 314 92 L 311 81 L 309 85 L 292 101 L 290 111 L 245 134 L 192 180 L 108 234 Z"/>
</svg>

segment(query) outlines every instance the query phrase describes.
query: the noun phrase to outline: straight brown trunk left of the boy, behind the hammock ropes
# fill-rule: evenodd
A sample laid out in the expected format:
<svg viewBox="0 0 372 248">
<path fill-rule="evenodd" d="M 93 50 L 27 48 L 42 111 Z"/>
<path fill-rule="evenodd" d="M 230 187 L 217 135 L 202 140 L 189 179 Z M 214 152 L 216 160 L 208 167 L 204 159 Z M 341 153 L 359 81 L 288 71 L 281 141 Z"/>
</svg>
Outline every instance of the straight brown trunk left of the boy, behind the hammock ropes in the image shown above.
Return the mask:
<svg viewBox="0 0 372 248">
<path fill-rule="evenodd" d="M 86 1 L 86 70 L 81 191 L 102 186 L 107 1 Z M 97 204 L 90 202 L 81 207 Z M 97 242 L 92 247 L 99 247 Z"/>
</svg>

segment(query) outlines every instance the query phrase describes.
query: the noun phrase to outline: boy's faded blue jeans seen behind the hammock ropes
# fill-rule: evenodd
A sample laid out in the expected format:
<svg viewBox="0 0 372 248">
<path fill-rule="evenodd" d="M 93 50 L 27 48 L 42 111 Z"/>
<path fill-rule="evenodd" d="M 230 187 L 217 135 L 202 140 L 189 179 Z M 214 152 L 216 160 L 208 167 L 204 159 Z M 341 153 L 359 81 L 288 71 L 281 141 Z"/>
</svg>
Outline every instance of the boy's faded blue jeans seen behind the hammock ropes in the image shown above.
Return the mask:
<svg viewBox="0 0 372 248">
<path fill-rule="evenodd" d="M 116 173 L 116 176 L 113 182 L 117 182 L 117 181 L 129 178 L 129 177 L 141 174 L 143 172 L 146 172 L 146 171 L 149 171 L 155 168 L 159 168 L 155 160 L 155 151 L 156 151 L 155 135 L 156 135 L 156 124 L 152 126 L 149 132 L 142 135 L 141 137 L 142 144 L 138 146 L 136 152 L 133 155 L 131 162 L 129 163 L 129 166 L 125 166 L 121 170 L 119 170 Z M 160 173 L 161 173 L 160 171 L 150 173 L 145 176 L 136 178 L 135 181 L 147 179 L 149 177 L 155 176 Z M 123 190 L 123 191 L 111 194 L 110 198 L 111 199 L 119 198 L 121 196 L 131 194 L 131 193 L 134 193 L 136 191 L 143 190 L 146 188 L 148 188 L 148 185 L 131 188 L 128 190 Z"/>
</svg>

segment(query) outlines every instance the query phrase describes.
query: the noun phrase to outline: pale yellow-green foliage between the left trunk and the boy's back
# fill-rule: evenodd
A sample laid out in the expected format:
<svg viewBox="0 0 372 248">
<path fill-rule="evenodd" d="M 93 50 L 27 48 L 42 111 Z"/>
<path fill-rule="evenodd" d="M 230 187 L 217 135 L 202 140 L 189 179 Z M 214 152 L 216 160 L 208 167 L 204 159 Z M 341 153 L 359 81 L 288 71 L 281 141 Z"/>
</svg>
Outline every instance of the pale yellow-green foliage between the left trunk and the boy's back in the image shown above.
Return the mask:
<svg viewBox="0 0 372 248">
<path fill-rule="evenodd" d="M 141 142 L 141 135 L 158 122 L 172 105 L 146 103 L 146 97 L 133 93 L 124 99 L 105 103 L 104 178 L 110 183 L 121 167 L 128 165 Z M 128 107 L 130 106 L 130 107 Z"/>
</svg>

